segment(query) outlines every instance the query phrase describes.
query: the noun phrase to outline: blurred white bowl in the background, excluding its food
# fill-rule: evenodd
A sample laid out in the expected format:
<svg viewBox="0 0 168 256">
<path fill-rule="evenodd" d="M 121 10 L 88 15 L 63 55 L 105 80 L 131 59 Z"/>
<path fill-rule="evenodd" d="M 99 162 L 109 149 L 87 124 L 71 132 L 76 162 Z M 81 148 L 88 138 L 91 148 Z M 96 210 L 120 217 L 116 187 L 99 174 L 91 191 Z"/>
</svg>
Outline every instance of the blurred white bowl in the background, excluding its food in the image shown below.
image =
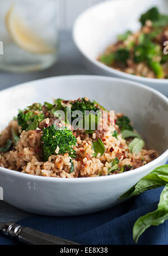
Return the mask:
<svg viewBox="0 0 168 256">
<path fill-rule="evenodd" d="M 168 96 L 168 80 L 129 75 L 105 66 L 96 58 L 117 36 L 127 30 L 137 31 L 139 16 L 152 6 L 168 14 L 167 0 L 105 1 L 82 13 L 73 27 L 73 40 L 82 54 L 86 66 L 96 75 L 126 78 L 151 86 Z"/>
</svg>

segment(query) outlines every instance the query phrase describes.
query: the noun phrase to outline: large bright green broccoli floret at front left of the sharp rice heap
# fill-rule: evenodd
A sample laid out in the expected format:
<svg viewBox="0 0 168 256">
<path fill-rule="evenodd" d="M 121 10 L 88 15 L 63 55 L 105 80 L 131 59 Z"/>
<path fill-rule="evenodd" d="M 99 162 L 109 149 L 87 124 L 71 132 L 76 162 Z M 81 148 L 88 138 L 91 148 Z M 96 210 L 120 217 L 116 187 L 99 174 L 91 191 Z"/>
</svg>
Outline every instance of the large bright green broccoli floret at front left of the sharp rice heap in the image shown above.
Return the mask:
<svg viewBox="0 0 168 256">
<path fill-rule="evenodd" d="M 73 146 L 76 146 L 77 139 L 67 127 L 60 128 L 55 124 L 44 127 L 41 140 L 43 141 L 44 161 L 47 161 L 49 156 L 58 153 L 61 155 L 69 153 L 71 157 L 76 155 Z M 59 149 L 58 153 L 55 152 L 57 148 Z"/>
</svg>

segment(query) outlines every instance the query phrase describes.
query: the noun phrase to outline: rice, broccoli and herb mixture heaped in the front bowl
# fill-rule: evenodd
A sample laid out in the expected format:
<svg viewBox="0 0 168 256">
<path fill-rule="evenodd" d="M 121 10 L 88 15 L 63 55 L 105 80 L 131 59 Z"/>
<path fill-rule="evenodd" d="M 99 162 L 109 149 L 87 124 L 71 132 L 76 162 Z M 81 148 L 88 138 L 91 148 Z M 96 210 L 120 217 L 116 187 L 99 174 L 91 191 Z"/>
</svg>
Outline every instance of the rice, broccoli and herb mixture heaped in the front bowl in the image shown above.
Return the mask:
<svg viewBox="0 0 168 256">
<path fill-rule="evenodd" d="M 123 173 L 158 157 L 157 151 L 144 148 L 128 117 L 110 114 L 87 97 L 27 106 L 1 132 L 0 166 L 32 175 L 80 178 Z"/>
</svg>

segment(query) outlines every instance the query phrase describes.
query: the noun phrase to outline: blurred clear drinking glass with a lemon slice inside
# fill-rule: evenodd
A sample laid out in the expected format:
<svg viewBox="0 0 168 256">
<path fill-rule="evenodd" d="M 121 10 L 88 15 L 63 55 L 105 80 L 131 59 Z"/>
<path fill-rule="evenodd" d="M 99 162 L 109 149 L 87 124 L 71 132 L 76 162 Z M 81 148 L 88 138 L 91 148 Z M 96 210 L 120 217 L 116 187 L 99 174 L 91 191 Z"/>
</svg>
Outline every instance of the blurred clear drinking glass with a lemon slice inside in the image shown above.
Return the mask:
<svg viewBox="0 0 168 256">
<path fill-rule="evenodd" d="M 58 56 L 58 0 L 1 0 L 0 69 L 45 69 Z"/>
</svg>

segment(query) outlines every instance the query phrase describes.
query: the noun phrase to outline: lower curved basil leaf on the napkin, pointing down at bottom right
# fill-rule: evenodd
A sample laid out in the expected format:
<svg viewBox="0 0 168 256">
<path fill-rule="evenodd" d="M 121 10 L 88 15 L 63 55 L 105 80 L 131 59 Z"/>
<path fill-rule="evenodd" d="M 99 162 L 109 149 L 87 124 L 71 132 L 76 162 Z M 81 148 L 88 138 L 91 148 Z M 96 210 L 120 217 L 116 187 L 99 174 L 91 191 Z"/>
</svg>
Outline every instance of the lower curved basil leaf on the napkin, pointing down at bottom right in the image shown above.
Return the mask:
<svg viewBox="0 0 168 256">
<path fill-rule="evenodd" d="M 162 190 L 156 211 L 138 218 L 133 226 L 133 239 L 137 243 L 139 236 L 150 226 L 158 226 L 168 219 L 168 184 Z"/>
</svg>

